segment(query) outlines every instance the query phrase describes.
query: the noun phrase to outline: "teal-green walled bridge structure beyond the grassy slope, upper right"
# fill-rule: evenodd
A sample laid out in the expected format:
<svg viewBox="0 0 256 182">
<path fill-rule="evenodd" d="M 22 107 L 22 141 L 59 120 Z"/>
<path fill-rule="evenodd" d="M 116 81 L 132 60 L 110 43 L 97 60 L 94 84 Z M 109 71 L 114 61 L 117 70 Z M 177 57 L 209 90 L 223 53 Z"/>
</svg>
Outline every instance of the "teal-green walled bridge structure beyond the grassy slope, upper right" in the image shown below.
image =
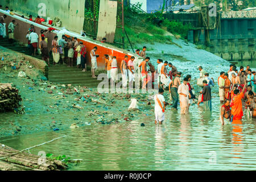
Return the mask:
<svg viewBox="0 0 256 182">
<path fill-rule="evenodd" d="M 203 6 L 197 13 L 164 16 L 191 24 L 187 39 L 199 48 L 235 64 L 252 64 L 256 60 L 256 10 L 228 11 L 209 16 L 209 7 Z"/>
</svg>

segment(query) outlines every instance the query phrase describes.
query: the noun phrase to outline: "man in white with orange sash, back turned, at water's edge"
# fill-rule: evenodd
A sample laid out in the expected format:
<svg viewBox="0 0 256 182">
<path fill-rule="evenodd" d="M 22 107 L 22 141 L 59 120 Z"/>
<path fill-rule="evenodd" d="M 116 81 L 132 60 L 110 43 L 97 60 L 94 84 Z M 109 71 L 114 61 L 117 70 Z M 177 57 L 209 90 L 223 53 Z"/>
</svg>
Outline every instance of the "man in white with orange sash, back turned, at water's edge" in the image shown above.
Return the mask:
<svg viewBox="0 0 256 182">
<path fill-rule="evenodd" d="M 164 109 L 166 102 L 163 96 L 163 89 L 159 89 L 158 94 L 155 95 L 155 124 L 159 123 L 160 125 L 164 121 Z"/>
</svg>

